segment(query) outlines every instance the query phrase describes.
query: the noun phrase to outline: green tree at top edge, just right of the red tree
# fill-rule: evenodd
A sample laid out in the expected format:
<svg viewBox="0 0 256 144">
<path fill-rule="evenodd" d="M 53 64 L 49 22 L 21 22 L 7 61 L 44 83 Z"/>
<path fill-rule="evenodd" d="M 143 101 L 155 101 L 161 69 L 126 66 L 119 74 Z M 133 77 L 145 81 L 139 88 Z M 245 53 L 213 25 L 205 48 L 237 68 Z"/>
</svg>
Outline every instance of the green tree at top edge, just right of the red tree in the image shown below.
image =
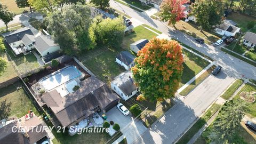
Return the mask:
<svg viewBox="0 0 256 144">
<path fill-rule="evenodd" d="M 219 0 L 198 0 L 192 4 L 190 15 L 195 15 L 196 21 L 202 29 L 210 29 L 218 25 L 223 14 L 222 1 Z"/>
</svg>

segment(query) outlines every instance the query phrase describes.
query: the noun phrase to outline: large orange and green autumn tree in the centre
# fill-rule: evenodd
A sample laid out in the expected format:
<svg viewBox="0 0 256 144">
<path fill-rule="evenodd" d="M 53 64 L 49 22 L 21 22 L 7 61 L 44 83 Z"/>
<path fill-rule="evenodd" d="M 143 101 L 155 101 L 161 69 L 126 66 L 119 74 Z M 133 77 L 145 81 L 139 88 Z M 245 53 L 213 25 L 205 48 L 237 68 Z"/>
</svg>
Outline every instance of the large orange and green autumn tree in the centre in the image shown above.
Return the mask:
<svg viewBox="0 0 256 144">
<path fill-rule="evenodd" d="M 183 71 L 179 43 L 153 38 L 137 56 L 132 72 L 143 96 L 150 101 L 173 97 Z"/>
</svg>

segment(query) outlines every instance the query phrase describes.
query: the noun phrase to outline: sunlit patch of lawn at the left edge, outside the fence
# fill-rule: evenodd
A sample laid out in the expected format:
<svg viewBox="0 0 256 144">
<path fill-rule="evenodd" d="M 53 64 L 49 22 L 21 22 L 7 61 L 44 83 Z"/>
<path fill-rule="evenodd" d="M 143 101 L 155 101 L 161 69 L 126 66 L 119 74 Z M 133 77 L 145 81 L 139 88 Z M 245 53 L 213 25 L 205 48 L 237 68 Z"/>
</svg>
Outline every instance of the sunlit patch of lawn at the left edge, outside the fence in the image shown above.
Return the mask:
<svg viewBox="0 0 256 144">
<path fill-rule="evenodd" d="M 8 79 L 11 79 L 13 77 L 18 76 L 17 72 L 15 71 L 12 62 L 7 59 L 7 54 L 4 53 L 3 58 L 8 62 L 7 68 L 3 73 L 0 75 L 0 83 L 7 81 Z"/>
</svg>

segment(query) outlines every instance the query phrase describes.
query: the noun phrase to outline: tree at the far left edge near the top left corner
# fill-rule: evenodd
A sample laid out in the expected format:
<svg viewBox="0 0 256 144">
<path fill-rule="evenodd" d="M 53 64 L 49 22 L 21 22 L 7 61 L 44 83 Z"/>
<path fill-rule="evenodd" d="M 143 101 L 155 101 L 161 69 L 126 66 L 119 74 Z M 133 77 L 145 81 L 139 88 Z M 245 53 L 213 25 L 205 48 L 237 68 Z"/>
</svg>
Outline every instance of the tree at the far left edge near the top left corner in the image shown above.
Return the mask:
<svg viewBox="0 0 256 144">
<path fill-rule="evenodd" d="M 6 26 L 6 31 L 8 30 L 8 23 L 13 20 L 15 13 L 9 11 L 7 6 L 0 4 L 0 19 L 4 22 Z"/>
</svg>

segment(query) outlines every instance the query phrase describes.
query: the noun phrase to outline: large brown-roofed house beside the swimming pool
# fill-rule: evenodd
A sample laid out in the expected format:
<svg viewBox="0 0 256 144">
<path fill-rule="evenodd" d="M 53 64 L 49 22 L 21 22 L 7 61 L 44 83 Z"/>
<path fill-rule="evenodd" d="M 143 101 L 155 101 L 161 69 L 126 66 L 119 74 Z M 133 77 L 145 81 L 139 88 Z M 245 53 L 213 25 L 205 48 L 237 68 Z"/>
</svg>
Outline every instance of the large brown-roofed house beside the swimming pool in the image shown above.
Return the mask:
<svg viewBox="0 0 256 144">
<path fill-rule="evenodd" d="M 73 82 L 76 83 L 75 81 Z M 72 83 L 66 83 L 65 87 L 67 89 L 70 87 L 67 84 L 74 87 Z M 79 83 L 79 87 L 76 91 L 71 87 L 71 89 L 68 89 L 70 93 L 64 96 L 60 91 L 53 89 L 44 93 L 41 97 L 61 126 L 70 127 L 76 125 L 83 119 L 92 116 L 98 110 L 106 113 L 106 111 L 115 107 L 119 101 L 118 96 L 108 88 L 107 84 L 96 77 L 86 78 Z"/>
</svg>

